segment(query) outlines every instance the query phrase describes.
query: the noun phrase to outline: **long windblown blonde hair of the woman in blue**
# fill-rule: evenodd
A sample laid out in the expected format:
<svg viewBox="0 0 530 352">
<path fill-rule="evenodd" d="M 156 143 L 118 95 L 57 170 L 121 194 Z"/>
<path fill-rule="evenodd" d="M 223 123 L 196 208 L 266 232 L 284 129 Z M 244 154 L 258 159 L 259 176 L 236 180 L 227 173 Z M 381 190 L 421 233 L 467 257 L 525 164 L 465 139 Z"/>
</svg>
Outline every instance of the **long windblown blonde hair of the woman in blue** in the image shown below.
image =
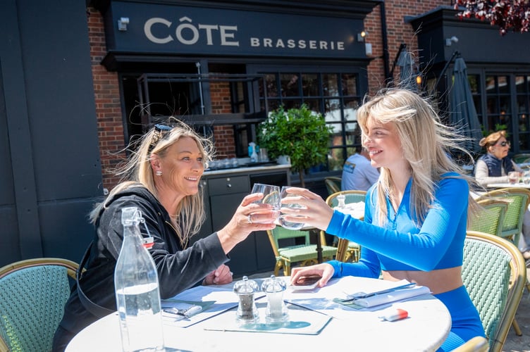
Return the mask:
<svg viewBox="0 0 530 352">
<path fill-rule="evenodd" d="M 357 111 L 357 121 L 362 130 L 362 143 L 366 140 L 367 122 L 373 119 L 381 124 L 392 123 L 402 145 L 402 153 L 409 163 L 412 173 L 410 208 L 412 219 L 421 226 L 432 207 L 436 184 L 446 172 L 457 172 L 457 178 L 476 182 L 464 174 L 455 161 L 450 158 L 451 150 L 459 150 L 472 158 L 470 153 L 460 146 L 467 140 L 451 127 L 440 122 L 440 117 L 426 98 L 407 89 L 383 89 L 373 98 L 365 97 L 364 104 Z M 393 180 L 387 168 L 381 168 L 381 177 L 376 184 L 378 223 L 386 222 L 386 195 L 392 195 Z M 447 176 L 446 176 L 447 177 Z M 455 176 L 448 176 L 455 177 Z M 470 187 L 471 188 L 471 187 Z M 469 196 L 468 217 L 476 213 L 476 201 Z M 470 211 L 471 210 L 471 213 Z"/>
</svg>

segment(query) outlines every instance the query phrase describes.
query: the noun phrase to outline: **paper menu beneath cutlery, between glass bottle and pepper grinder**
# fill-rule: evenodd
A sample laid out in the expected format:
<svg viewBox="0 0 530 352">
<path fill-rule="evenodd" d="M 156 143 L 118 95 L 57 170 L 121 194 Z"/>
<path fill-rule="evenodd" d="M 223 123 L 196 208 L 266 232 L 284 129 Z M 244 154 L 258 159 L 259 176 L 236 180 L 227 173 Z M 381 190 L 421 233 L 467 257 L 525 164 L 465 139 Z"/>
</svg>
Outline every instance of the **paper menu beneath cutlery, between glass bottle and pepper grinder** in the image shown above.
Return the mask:
<svg viewBox="0 0 530 352">
<path fill-rule="evenodd" d="M 259 299 L 265 294 L 262 292 L 256 292 L 254 299 Z M 162 300 L 161 306 L 171 306 L 175 303 L 188 303 L 202 306 L 202 311 L 190 318 L 176 318 L 171 319 L 168 316 L 164 316 L 164 324 L 169 324 L 177 327 L 189 327 L 197 324 L 202 320 L 209 319 L 223 313 L 225 310 L 238 306 L 238 295 L 233 292 L 232 285 L 223 286 L 197 286 L 169 298 L 168 300 Z"/>
</svg>

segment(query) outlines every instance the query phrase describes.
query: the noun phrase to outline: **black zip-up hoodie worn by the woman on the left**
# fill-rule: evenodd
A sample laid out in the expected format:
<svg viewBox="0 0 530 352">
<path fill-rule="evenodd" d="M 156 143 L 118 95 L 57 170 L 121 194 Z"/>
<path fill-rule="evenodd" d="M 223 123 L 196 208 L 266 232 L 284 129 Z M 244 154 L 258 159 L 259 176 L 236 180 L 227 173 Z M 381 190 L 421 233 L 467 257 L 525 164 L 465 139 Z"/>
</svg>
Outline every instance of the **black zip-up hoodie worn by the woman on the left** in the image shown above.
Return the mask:
<svg viewBox="0 0 530 352">
<path fill-rule="evenodd" d="M 149 253 L 159 275 L 162 299 L 173 297 L 193 287 L 229 260 L 216 233 L 183 249 L 166 209 L 151 192 L 139 184 L 138 187 L 118 192 L 113 199 L 106 201 L 106 208 L 97 220 L 90 258 L 85 266 L 87 270 L 82 274 L 80 286 L 85 295 L 99 306 L 116 310 L 114 268 L 123 241 L 121 209 L 130 206 L 135 206 L 142 212 L 149 233 L 154 237 L 154 246 L 149 249 Z M 140 232 L 142 236 L 147 237 L 143 224 L 140 224 Z M 55 338 L 70 341 L 81 329 L 99 318 L 82 305 L 77 286 L 74 285 Z M 70 334 L 66 334 L 67 332 Z"/>
</svg>

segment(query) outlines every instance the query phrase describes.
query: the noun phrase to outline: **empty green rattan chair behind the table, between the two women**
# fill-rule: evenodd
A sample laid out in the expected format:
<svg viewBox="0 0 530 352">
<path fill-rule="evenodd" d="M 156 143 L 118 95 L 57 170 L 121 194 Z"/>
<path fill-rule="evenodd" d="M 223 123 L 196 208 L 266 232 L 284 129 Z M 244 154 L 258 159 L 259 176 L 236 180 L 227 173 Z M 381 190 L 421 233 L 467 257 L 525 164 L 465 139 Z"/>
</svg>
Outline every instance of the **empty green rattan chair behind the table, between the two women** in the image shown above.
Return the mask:
<svg viewBox="0 0 530 352">
<path fill-rule="evenodd" d="M 318 253 L 316 244 L 310 244 L 309 231 L 288 230 L 281 226 L 276 226 L 273 230 L 267 230 L 269 240 L 271 241 L 272 250 L 276 257 L 274 275 L 283 268 L 283 275 L 291 275 L 292 263 L 300 262 L 301 265 L 316 264 L 318 262 Z M 302 237 L 304 244 L 294 244 L 290 246 L 281 246 L 281 241 L 285 239 L 295 239 Z M 321 236 L 322 258 L 331 260 L 337 253 L 337 249 L 332 246 L 326 246 L 326 240 Z"/>
</svg>

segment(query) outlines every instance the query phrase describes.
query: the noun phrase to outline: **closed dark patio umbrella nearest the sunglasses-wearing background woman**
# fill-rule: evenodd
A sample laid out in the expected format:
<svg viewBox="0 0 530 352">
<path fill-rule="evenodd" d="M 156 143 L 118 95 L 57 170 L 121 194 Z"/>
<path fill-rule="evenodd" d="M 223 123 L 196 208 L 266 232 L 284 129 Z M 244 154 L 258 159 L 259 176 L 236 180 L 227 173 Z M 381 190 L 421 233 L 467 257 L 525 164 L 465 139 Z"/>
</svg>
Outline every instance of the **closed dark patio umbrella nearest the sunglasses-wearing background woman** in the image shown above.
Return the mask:
<svg viewBox="0 0 530 352">
<path fill-rule="evenodd" d="M 449 96 L 449 122 L 461 134 L 469 138 L 464 143 L 468 151 L 479 152 L 479 141 L 482 138 L 481 125 L 476 115 L 473 96 L 467 80 L 467 66 L 464 59 L 458 55 L 453 68 L 453 84 Z"/>
</svg>

